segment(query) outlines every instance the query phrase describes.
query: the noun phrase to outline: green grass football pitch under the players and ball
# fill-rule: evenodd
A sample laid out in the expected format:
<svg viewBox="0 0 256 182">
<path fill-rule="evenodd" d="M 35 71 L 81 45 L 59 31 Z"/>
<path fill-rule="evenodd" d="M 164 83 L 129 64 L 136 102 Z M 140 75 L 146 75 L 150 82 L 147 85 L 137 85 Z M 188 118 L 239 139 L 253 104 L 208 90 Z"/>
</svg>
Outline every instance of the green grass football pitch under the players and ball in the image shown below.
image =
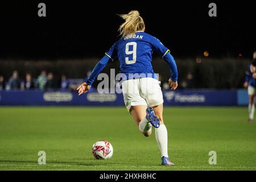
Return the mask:
<svg viewBox="0 0 256 182">
<path fill-rule="evenodd" d="M 255 170 L 256 125 L 246 119 L 246 107 L 165 107 L 175 166 L 163 167 L 154 132 L 143 137 L 125 107 L 0 107 L 0 170 Z M 101 139 L 112 159 L 93 159 Z"/>
</svg>

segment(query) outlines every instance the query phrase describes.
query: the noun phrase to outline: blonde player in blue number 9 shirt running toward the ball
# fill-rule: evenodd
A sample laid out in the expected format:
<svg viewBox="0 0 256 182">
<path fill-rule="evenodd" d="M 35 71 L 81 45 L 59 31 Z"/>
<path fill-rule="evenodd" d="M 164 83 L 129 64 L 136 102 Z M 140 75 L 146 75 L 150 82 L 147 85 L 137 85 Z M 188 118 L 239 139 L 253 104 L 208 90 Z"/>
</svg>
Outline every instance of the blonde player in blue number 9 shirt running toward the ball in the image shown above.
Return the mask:
<svg viewBox="0 0 256 182">
<path fill-rule="evenodd" d="M 96 64 L 92 74 L 77 90 L 79 96 L 88 92 L 93 81 L 113 61 L 117 55 L 120 62 L 122 77 L 123 100 L 132 115 L 139 130 L 149 137 L 151 126 L 155 127 L 155 137 L 161 155 L 162 165 L 173 166 L 168 158 L 167 129 L 163 122 L 163 94 L 159 81 L 152 69 L 152 52 L 157 52 L 170 67 L 170 88 L 177 88 L 177 67 L 170 50 L 163 44 L 144 32 L 145 24 L 138 11 L 120 15 L 125 22 L 119 27 L 121 38 L 105 53 Z"/>
</svg>

